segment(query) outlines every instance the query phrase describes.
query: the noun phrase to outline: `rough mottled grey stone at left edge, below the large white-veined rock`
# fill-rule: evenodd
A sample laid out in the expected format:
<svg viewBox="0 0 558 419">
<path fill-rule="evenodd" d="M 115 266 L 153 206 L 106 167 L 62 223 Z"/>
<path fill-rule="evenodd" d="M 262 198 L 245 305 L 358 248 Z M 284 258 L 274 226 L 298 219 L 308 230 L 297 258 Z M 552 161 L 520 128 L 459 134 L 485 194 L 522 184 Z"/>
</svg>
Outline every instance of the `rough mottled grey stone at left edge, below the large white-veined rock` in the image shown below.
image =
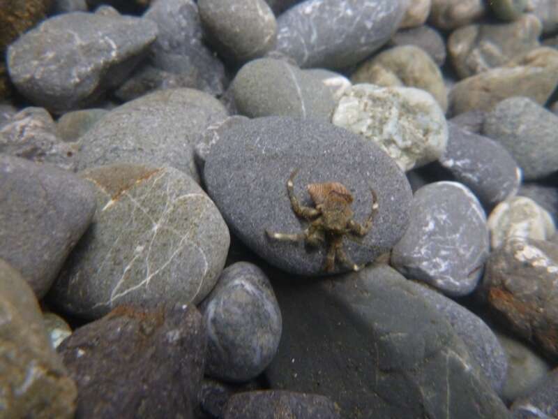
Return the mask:
<svg viewBox="0 0 558 419">
<path fill-rule="evenodd" d="M 77 167 L 76 144 L 58 136 L 56 123 L 44 108 L 24 108 L 0 126 L 0 153 L 64 170 Z"/>
</svg>

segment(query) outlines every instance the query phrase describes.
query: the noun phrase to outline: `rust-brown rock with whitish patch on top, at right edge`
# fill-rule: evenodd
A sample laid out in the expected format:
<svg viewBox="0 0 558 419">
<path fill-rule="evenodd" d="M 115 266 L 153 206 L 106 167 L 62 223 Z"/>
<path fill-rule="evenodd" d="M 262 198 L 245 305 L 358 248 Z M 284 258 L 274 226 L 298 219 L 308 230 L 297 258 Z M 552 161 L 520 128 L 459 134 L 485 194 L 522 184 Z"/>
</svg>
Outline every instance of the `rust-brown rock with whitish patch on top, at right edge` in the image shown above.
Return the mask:
<svg viewBox="0 0 558 419">
<path fill-rule="evenodd" d="M 508 239 L 486 264 L 483 296 L 502 322 L 558 358 L 558 245 Z"/>
</svg>

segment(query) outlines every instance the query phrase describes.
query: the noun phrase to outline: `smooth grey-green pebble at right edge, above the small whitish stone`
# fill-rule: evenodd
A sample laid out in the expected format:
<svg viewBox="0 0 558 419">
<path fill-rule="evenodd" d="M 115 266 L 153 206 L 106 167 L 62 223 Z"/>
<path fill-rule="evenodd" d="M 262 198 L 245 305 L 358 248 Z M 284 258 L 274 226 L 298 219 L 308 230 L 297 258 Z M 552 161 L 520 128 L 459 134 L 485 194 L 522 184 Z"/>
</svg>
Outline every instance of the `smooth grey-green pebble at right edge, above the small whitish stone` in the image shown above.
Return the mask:
<svg viewBox="0 0 558 419">
<path fill-rule="evenodd" d="M 498 103 L 486 115 L 483 133 L 497 140 L 522 168 L 526 180 L 558 170 L 558 116 L 525 97 Z"/>
</svg>

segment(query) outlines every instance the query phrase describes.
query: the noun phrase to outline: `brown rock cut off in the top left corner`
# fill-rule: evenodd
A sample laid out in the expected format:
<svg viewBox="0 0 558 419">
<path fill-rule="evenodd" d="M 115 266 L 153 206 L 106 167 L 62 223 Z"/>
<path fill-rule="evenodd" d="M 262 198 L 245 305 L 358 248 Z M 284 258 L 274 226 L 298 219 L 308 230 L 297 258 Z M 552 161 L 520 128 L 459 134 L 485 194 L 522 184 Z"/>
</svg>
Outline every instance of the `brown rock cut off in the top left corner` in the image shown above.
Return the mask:
<svg viewBox="0 0 558 419">
<path fill-rule="evenodd" d="M 0 52 L 46 16 L 53 0 L 0 0 Z"/>
</svg>

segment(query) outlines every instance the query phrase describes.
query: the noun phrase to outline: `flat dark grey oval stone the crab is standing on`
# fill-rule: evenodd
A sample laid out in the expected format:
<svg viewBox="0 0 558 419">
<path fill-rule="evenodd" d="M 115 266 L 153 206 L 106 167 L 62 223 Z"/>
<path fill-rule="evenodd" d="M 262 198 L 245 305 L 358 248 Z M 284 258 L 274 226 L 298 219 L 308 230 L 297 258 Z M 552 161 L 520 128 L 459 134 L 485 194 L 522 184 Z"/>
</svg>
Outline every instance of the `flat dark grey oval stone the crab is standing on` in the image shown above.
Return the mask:
<svg viewBox="0 0 558 419">
<path fill-rule="evenodd" d="M 407 178 L 379 147 L 327 122 L 266 117 L 232 126 L 221 134 L 206 158 L 204 180 L 227 224 L 259 256 L 288 272 L 324 273 L 326 247 L 308 249 L 302 242 L 280 242 L 265 230 L 300 233 L 307 227 L 292 210 L 287 180 L 294 170 L 294 193 L 312 205 L 306 186 L 340 182 L 354 198 L 354 220 L 363 223 L 378 210 L 360 243 L 344 240 L 356 264 L 377 258 L 398 242 L 407 228 L 412 199 Z M 338 271 L 347 270 L 337 264 Z"/>
</svg>

